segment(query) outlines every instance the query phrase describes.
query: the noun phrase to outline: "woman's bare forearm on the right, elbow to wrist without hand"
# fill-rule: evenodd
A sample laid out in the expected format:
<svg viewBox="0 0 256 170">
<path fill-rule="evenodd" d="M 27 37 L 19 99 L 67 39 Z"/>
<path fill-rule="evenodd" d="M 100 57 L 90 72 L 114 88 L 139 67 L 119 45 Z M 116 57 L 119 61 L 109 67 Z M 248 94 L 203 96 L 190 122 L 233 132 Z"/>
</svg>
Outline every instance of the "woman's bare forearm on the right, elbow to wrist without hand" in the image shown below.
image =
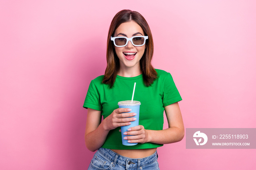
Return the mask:
<svg viewBox="0 0 256 170">
<path fill-rule="evenodd" d="M 184 137 L 184 128 L 170 127 L 165 130 L 146 130 L 147 142 L 167 144 L 179 142 Z"/>
</svg>

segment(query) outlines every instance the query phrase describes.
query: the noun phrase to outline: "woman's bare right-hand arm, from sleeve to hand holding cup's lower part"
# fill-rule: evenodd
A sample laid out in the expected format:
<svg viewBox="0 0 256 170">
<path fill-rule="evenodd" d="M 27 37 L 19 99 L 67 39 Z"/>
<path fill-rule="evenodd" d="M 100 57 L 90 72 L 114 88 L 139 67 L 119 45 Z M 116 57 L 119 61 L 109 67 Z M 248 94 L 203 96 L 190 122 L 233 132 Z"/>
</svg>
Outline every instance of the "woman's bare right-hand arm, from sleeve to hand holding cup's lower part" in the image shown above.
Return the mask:
<svg viewBox="0 0 256 170">
<path fill-rule="evenodd" d="M 170 104 L 165 107 L 165 113 L 168 121 L 169 128 L 165 130 L 145 130 L 142 125 L 131 128 L 127 132 L 127 140 L 131 143 L 158 143 L 167 144 L 179 142 L 184 137 L 184 125 L 181 116 L 180 107 L 178 102 Z"/>
</svg>

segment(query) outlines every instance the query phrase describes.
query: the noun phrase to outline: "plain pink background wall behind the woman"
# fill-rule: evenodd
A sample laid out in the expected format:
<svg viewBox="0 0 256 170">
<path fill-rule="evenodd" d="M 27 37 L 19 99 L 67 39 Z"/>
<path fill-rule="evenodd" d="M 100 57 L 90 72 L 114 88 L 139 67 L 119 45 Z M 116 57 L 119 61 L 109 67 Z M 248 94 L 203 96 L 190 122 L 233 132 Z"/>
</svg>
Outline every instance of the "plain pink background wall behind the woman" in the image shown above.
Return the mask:
<svg viewBox="0 0 256 170">
<path fill-rule="evenodd" d="M 139 11 L 153 65 L 180 91 L 185 128 L 256 128 L 256 2 L 251 0 L 0 2 L 0 169 L 82 170 L 90 81 L 104 74 L 121 9 Z M 167 127 L 167 124 L 164 125 Z M 161 169 L 253 169 L 253 149 L 158 148 Z"/>
</svg>

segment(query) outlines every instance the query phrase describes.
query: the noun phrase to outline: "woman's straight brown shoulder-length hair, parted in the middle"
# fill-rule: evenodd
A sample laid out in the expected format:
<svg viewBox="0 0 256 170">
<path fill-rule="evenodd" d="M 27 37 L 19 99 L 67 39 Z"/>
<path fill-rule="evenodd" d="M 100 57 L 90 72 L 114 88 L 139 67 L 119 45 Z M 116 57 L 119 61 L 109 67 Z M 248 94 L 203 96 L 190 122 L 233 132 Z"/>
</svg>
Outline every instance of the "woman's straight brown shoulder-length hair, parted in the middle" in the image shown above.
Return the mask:
<svg viewBox="0 0 256 170">
<path fill-rule="evenodd" d="M 120 24 L 129 22 L 131 20 L 138 23 L 139 26 L 142 27 L 144 34 L 148 36 L 148 39 L 146 40 L 145 52 L 140 59 L 140 69 L 142 71 L 144 84 L 146 86 L 150 86 L 157 78 L 157 72 L 151 65 L 151 60 L 154 52 L 154 44 L 148 23 L 139 12 L 124 9 L 114 16 L 109 27 L 107 43 L 107 67 L 102 82 L 104 84 L 109 84 L 110 88 L 112 88 L 114 85 L 117 72 L 120 67 L 119 58 L 116 55 L 116 51 L 114 50 L 114 44 L 110 40 L 110 37 L 113 36 L 114 32 L 116 31 L 117 27 L 120 26 Z"/>
</svg>

